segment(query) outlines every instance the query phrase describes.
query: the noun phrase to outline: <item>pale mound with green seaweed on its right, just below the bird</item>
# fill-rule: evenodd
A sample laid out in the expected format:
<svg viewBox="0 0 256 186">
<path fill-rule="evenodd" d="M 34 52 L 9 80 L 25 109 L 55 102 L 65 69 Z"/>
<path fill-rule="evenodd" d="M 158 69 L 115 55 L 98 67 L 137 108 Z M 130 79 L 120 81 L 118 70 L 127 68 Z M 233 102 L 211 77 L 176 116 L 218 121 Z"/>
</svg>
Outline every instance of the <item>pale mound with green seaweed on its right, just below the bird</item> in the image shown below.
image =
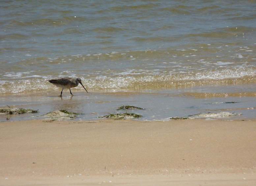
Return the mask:
<svg viewBox="0 0 256 186">
<path fill-rule="evenodd" d="M 69 112 L 67 110 L 55 110 L 41 116 L 47 117 L 46 120 L 54 121 L 54 120 L 67 120 L 67 119 L 76 118 L 77 115 L 80 115 L 80 114 Z"/>
</svg>

